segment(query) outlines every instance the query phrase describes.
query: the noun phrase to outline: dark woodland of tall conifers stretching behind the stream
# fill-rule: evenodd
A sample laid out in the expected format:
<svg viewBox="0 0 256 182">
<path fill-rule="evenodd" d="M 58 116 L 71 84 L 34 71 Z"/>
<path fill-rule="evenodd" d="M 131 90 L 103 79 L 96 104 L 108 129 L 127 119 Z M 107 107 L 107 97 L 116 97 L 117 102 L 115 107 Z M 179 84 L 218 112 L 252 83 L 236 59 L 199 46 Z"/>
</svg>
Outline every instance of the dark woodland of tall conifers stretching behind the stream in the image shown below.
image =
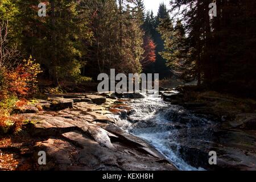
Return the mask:
<svg viewBox="0 0 256 182">
<path fill-rule="evenodd" d="M 40 2 L 46 17 L 38 16 Z M 211 2 L 217 16 L 210 18 Z M 31 55 L 43 71 L 39 80 L 55 86 L 97 81 L 115 68 L 255 97 L 256 2 L 170 3 L 154 16 L 142 0 L 2 0 L 1 75 Z"/>
</svg>

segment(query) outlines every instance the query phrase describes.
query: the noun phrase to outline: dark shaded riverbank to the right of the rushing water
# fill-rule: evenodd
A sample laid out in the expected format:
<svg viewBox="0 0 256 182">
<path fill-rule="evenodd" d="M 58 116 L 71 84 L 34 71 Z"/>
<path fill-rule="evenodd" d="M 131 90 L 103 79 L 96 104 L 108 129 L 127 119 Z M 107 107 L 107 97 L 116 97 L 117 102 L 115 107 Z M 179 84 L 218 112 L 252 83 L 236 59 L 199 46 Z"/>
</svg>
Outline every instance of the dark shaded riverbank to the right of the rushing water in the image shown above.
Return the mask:
<svg viewBox="0 0 256 182">
<path fill-rule="evenodd" d="M 255 170 L 256 164 L 256 102 L 228 94 L 198 90 L 195 86 L 165 91 L 163 100 L 180 105 L 189 113 L 213 121 L 205 127 L 183 128 L 179 153 L 192 166 L 205 169 Z M 197 125 L 196 119 L 181 117 L 179 123 Z M 200 130 L 204 131 L 200 132 Z M 184 137 L 187 133 L 188 137 Z M 200 137 L 197 135 L 200 134 Z M 189 138 L 189 139 L 187 139 Z M 217 165 L 209 166 L 208 152 L 217 152 Z M 193 156 L 193 157 L 192 157 Z"/>
</svg>

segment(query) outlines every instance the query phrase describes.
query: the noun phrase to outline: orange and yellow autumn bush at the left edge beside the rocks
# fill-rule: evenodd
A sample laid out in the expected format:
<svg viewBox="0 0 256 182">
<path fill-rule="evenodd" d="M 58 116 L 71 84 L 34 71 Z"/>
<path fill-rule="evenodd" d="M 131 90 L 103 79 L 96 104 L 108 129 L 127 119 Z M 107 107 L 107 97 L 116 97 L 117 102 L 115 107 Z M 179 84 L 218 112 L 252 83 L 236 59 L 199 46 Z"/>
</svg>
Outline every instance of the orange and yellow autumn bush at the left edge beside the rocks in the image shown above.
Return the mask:
<svg viewBox="0 0 256 182">
<path fill-rule="evenodd" d="M 15 133 L 21 128 L 22 118 L 10 113 L 27 104 L 25 97 L 35 92 L 40 72 L 40 65 L 31 56 L 14 68 L 0 68 L 0 134 Z"/>
</svg>

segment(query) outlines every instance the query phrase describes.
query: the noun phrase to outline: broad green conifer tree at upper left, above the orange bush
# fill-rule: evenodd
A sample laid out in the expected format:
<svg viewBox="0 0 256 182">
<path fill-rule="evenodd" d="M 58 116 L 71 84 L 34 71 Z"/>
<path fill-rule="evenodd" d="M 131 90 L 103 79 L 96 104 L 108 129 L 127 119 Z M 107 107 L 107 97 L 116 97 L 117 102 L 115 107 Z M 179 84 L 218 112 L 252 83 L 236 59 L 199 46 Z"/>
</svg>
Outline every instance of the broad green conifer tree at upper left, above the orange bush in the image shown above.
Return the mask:
<svg viewBox="0 0 256 182">
<path fill-rule="evenodd" d="M 19 1 L 19 23 L 22 27 L 22 47 L 32 55 L 46 73 L 59 85 L 59 78 L 76 79 L 84 64 L 82 41 L 88 42 L 92 33 L 88 19 L 80 16 L 78 1 L 51 0 L 47 16 L 38 16 L 40 1 Z"/>
</svg>

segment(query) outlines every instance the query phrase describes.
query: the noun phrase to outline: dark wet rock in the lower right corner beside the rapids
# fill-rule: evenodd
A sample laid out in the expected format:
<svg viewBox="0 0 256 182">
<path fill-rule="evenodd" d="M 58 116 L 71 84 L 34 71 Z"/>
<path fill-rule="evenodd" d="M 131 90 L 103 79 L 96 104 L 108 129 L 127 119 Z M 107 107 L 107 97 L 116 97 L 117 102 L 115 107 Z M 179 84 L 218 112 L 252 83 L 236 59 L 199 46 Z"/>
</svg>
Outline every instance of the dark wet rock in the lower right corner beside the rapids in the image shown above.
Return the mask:
<svg viewBox="0 0 256 182">
<path fill-rule="evenodd" d="M 216 126 L 214 126 L 216 127 Z M 170 147 L 188 164 L 207 170 L 255 170 L 255 135 L 240 130 L 184 127 Z M 216 151 L 217 165 L 210 165 L 209 152 Z"/>
</svg>

